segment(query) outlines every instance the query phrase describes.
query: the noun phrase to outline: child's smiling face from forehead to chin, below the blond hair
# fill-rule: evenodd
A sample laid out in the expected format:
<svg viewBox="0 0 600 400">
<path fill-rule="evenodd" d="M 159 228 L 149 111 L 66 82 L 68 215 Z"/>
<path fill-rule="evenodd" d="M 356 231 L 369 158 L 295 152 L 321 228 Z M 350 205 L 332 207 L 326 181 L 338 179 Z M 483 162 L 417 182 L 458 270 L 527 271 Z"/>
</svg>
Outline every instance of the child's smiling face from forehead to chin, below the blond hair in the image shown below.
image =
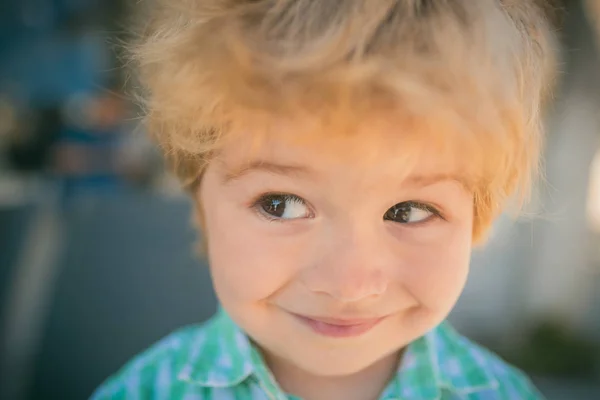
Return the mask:
<svg viewBox="0 0 600 400">
<path fill-rule="evenodd" d="M 350 374 L 455 304 L 473 195 L 427 145 L 407 170 L 397 136 L 298 144 L 272 135 L 254 150 L 240 138 L 207 168 L 199 196 L 214 286 L 267 357 Z"/>
</svg>

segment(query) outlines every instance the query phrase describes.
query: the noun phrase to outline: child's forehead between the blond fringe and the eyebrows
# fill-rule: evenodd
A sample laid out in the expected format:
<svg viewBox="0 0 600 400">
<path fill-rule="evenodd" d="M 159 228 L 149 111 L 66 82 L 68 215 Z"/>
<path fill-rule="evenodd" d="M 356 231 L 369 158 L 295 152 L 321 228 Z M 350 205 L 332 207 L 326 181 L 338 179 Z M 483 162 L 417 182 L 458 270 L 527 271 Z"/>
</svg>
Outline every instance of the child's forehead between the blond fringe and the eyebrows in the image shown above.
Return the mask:
<svg viewBox="0 0 600 400">
<path fill-rule="evenodd" d="M 468 185 L 473 166 L 465 162 L 465 146 L 440 139 L 449 139 L 451 132 L 437 132 L 385 121 L 369 121 L 345 132 L 280 122 L 268 129 L 232 132 L 219 158 L 231 170 L 264 162 L 366 179 L 447 175 Z"/>
</svg>

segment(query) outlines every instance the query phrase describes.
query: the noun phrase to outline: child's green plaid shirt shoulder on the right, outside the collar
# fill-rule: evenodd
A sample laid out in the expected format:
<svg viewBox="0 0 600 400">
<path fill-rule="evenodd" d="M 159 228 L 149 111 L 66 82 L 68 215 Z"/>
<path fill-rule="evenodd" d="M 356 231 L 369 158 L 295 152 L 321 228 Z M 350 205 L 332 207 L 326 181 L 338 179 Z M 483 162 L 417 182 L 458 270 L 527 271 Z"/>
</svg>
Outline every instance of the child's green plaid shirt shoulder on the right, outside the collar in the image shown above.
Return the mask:
<svg viewBox="0 0 600 400">
<path fill-rule="evenodd" d="M 436 336 L 440 375 L 463 397 L 469 400 L 544 399 L 523 371 L 460 335 L 449 324 L 440 326 Z"/>
</svg>

